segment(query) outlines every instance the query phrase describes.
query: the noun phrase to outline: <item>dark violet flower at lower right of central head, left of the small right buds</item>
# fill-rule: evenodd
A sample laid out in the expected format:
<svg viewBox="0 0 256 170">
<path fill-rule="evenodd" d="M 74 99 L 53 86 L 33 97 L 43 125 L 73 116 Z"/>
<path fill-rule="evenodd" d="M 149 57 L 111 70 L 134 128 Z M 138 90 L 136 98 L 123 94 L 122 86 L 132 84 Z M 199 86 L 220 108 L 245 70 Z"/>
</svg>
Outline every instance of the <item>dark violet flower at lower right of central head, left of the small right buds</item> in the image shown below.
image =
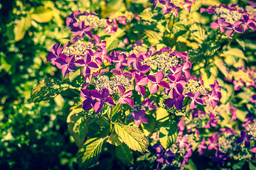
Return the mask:
<svg viewBox="0 0 256 170">
<path fill-rule="evenodd" d="M 175 90 L 171 91 L 171 98 L 167 98 L 166 101 L 164 101 L 164 104 L 171 108 L 172 106 L 175 106 L 177 110 L 181 110 L 183 107 L 183 99 L 184 96 L 178 94 Z"/>
</svg>

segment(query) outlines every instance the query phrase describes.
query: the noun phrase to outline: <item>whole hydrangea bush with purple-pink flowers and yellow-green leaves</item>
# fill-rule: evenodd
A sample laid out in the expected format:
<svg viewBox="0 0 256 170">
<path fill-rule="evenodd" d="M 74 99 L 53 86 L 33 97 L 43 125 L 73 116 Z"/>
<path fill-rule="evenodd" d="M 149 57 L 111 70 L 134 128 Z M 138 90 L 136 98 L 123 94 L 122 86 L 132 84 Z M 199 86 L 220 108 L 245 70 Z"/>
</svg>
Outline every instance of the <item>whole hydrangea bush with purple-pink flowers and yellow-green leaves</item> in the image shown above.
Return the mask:
<svg viewBox="0 0 256 170">
<path fill-rule="evenodd" d="M 102 152 L 131 169 L 196 169 L 200 157 L 218 168 L 255 168 L 256 72 L 232 42 L 245 50 L 242 33 L 256 29 L 256 4 L 193 6 L 152 0 L 142 13 L 68 16 L 70 41 L 47 57 L 64 81 L 42 80 L 31 101 L 68 91 L 80 169 Z M 202 26 L 187 18 L 192 11 L 215 19 Z"/>
</svg>

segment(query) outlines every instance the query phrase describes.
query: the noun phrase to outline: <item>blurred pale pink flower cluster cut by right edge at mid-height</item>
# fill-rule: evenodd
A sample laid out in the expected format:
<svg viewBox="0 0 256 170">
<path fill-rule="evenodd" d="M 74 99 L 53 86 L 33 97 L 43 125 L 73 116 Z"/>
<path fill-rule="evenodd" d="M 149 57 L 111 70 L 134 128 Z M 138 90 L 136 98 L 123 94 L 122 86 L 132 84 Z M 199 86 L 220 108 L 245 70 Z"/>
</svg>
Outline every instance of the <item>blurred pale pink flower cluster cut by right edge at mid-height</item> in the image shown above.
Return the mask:
<svg viewBox="0 0 256 170">
<path fill-rule="evenodd" d="M 238 71 L 231 71 L 230 75 L 233 77 L 234 89 L 236 91 L 240 90 L 241 87 L 246 86 L 250 88 L 251 86 L 256 88 L 256 69 L 249 68 L 244 69 L 242 67 L 238 68 Z"/>
</svg>

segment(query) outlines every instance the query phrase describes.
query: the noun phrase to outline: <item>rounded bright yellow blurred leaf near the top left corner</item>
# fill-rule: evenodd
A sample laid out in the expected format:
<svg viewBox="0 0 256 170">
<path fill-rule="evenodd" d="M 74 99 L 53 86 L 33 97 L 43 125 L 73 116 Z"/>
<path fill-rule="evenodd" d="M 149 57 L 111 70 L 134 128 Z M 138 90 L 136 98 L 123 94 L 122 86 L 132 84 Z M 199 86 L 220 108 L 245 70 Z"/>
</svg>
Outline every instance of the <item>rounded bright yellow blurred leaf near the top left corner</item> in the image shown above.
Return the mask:
<svg viewBox="0 0 256 170">
<path fill-rule="evenodd" d="M 53 11 L 45 6 L 38 6 L 31 13 L 31 18 L 38 23 L 48 23 L 53 18 Z"/>
</svg>

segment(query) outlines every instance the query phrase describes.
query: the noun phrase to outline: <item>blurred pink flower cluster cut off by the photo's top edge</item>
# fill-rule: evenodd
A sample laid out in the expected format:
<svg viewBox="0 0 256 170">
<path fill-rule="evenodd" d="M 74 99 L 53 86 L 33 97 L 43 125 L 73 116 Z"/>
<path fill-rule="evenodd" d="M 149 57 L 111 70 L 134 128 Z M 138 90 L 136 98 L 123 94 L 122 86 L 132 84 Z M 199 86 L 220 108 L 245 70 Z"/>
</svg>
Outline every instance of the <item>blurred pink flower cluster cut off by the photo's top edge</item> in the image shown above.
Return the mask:
<svg viewBox="0 0 256 170">
<path fill-rule="evenodd" d="M 154 8 L 156 8 L 156 5 L 159 3 L 162 7 L 162 12 L 164 15 L 166 13 L 171 13 L 174 16 L 178 16 L 178 11 L 181 9 L 186 9 L 186 11 L 191 11 L 191 5 L 195 4 L 195 0 L 151 0 L 151 3 L 153 4 Z"/>
</svg>

